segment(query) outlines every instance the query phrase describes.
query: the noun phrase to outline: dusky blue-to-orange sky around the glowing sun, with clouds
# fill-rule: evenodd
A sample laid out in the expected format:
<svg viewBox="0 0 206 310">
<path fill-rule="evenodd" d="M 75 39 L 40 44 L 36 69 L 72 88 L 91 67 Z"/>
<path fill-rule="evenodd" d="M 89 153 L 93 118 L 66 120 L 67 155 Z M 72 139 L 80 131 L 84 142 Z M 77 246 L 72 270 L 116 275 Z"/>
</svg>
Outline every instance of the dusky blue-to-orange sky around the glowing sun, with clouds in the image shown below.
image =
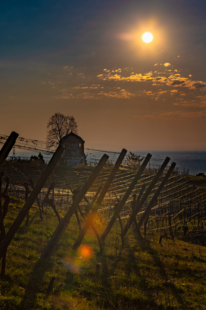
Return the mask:
<svg viewBox="0 0 206 310">
<path fill-rule="evenodd" d="M 44 141 L 59 111 L 86 147 L 206 150 L 205 16 L 204 0 L 4 2 L 0 133 Z"/>
</svg>

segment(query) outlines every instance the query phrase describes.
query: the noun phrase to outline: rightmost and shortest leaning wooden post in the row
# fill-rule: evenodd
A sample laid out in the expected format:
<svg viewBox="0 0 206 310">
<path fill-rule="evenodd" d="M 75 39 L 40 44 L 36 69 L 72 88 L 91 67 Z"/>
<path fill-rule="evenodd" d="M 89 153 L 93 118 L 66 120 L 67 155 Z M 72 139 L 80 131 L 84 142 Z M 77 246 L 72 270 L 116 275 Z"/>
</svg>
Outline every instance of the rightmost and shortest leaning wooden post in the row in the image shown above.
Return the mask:
<svg viewBox="0 0 206 310">
<path fill-rule="evenodd" d="M 172 171 L 174 170 L 174 167 L 176 166 L 176 163 L 173 162 L 169 168 L 169 170 L 167 171 L 164 179 L 162 180 L 162 182 L 160 183 L 158 189 L 156 190 L 156 192 L 154 193 L 152 199 L 150 200 L 146 210 L 144 211 L 144 213 L 142 214 L 140 220 L 139 220 L 139 223 L 138 223 L 138 226 L 139 228 L 142 226 L 144 220 L 146 219 L 146 217 L 149 215 L 152 207 L 153 207 L 153 204 L 155 203 L 155 201 L 157 200 L 162 188 L 164 187 L 165 183 L 167 182 L 167 180 L 169 179 Z"/>
</svg>

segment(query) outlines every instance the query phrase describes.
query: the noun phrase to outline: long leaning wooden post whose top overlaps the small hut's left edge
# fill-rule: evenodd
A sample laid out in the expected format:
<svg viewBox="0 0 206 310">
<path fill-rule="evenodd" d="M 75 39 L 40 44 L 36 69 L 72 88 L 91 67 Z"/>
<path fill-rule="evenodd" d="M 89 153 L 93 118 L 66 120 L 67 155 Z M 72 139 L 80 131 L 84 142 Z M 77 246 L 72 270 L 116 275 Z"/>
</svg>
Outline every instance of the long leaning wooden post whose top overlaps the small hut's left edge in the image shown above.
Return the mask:
<svg viewBox="0 0 206 310">
<path fill-rule="evenodd" d="M 61 157 L 61 154 L 63 153 L 63 151 L 64 151 L 64 147 L 61 145 L 58 146 L 56 152 L 53 154 L 50 162 L 48 163 L 46 169 L 44 170 L 44 172 L 40 176 L 40 179 L 36 183 L 36 186 L 32 190 L 32 193 L 29 195 L 29 197 L 28 197 L 27 201 L 25 202 L 23 208 L 21 209 L 21 211 L 17 215 L 17 218 L 15 219 L 14 223 L 12 224 L 11 228 L 7 232 L 6 237 L 4 238 L 4 240 L 2 241 L 1 246 L 0 246 L 0 259 L 2 258 L 4 251 L 9 246 L 11 240 L 13 239 L 17 230 L 19 229 L 20 225 L 22 224 L 22 222 L 23 222 L 24 218 L 26 217 L 28 211 L 31 209 L 34 201 L 36 200 L 41 189 L 43 188 L 44 184 L 46 183 L 50 173 L 52 172 L 52 170 L 56 166 L 57 162 L 59 161 L 59 158 Z"/>
</svg>

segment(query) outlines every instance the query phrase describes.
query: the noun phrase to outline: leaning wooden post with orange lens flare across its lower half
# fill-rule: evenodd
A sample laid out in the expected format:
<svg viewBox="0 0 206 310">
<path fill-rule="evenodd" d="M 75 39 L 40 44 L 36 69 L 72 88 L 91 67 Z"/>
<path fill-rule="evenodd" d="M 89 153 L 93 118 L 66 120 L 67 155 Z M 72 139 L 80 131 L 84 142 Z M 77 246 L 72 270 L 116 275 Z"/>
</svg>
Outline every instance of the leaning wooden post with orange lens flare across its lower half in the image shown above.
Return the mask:
<svg viewBox="0 0 206 310">
<path fill-rule="evenodd" d="M 120 165 L 121 165 L 121 163 L 122 163 L 126 153 L 127 153 L 127 150 L 125 150 L 125 148 L 123 148 L 121 153 L 120 153 L 120 155 L 119 155 L 119 157 L 117 158 L 117 161 L 116 161 L 116 163 L 114 165 L 114 168 L 111 170 L 111 173 L 110 173 L 106 183 L 104 184 L 104 187 L 103 187 L 101 193 L 99 194 L 99 197 L 98 197 L 98 199 L 97 199 L 97 201 L 95 203 L 95 206 L 91 210 L 91 213 L 88 214 L 87 220 L 84 223 L 84 226 L 82 227 L 82 230 L 79 233 L 79 235 L 77 237 L 77 240 L 75 241 L 72 250 L 77 250 L 77 248 L 80 246 L 80 244 L 81 244 L 81 242 L 82 242 L 82 240 L 83 240 L 83 238 L 84 238 L 88 228 L 90 227 L 90 225 L 92 223 L 92 220 L 94 219 L 94 216 L 95 216 L 97 210 L 99 209 L 99 207 L 100 207 L 100 205 L 101 205 L 101 203 L 102 203 L 102 201 L 103 201 L 103 199 L 104 199 L 104 197 L 105 197 L 105 195 L 107 193 L 107 190 L 110 187 L 111 182 L 113 181 L 113 179 L 114 179 L 114 177 L 115 177 L 115 175 L 116 175 L 116 173 L 117 173 L 117 171 L 118 171 L 118 169 L 119 169 L 119 167 L 120 167 Z"/>
</svg>

